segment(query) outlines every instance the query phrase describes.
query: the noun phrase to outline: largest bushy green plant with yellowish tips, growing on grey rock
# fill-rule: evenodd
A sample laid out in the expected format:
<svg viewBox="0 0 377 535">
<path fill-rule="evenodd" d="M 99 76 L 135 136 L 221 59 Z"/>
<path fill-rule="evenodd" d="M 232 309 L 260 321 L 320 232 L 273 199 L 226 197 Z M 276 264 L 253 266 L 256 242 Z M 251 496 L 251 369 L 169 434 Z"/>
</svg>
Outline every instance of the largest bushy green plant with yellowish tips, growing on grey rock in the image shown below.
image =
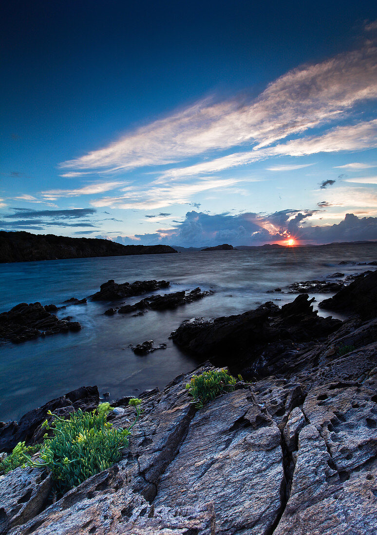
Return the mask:
<svg viewBox="0 0 377 535">
<path fill-rule="evenodd" d="M 34 462 L 21 453 L 34 467 L 48 467 L 55 480 L 55 490 L 62 495 L 88 477 L 109 468 L 122 457 L 121 450 L 128 446 L 131 429 L 141 414 L 141 400 L 133 398 L 129 405 L 136 409 L 136 418 L 128 429 L 113 429 L 107 422 L 107 414 L 112 410 L 109 403 L 101 403 L 92 412 L 72 412 L 66 420 L 48 412 L 54 417 L 49 425 L 52 437 L 44 435 L 40 457 L 42 462 Z"/>
</svg>

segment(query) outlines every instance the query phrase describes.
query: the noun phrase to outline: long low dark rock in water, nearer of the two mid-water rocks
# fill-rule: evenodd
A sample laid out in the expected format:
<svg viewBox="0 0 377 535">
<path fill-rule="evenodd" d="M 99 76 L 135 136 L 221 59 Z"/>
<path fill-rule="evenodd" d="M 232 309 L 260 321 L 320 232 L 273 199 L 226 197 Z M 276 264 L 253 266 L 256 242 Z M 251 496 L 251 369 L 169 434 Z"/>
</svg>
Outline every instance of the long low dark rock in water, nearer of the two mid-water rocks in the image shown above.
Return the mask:
<svg viewBox="0 0 377 535">
<path fill-rule="evenodd" d="M 191 290 L 191 292 L 187 293 L 185 290 L 183 290 L 181 292 L 174 292 L 165 295 L 151 295 L 145 299 L 142 299 L 138 303 L 132 305 L 126 304 L 123 307 L 120 307 L 118 312 L 119 314 L 128 314 L 129 312 L 134 312 L 135 310 L 144 311 L 148 308 L 152 310 L 174 309 L 180 305 L 203 299 L 203 297 L 211 294 L 213 294 L 212 290 L 202 292 L 200 288 L 195 288 L 194 290 Z"/>
</svg>

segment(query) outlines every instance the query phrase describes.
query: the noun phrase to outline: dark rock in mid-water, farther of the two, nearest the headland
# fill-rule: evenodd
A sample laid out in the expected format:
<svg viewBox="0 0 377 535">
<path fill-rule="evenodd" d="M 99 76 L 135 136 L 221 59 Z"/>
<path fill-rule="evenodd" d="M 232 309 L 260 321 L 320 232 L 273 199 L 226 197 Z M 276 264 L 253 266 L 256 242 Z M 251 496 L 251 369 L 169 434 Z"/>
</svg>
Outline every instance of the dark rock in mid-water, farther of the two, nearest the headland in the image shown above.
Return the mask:
<svg viewBox="0 0 377 535">
<path fill-rule="evenodd" d="M 124 297 L 155 292 L 160 288 L 167 288 L 170 282 L 166 280 L 136 280 L 135 282 L 123 282 L 117 284 L 114 279 L 104 282 L 100 286 L 100 291 L 91 295 L 94 301 L 117 301 Z"/>
</svg>

